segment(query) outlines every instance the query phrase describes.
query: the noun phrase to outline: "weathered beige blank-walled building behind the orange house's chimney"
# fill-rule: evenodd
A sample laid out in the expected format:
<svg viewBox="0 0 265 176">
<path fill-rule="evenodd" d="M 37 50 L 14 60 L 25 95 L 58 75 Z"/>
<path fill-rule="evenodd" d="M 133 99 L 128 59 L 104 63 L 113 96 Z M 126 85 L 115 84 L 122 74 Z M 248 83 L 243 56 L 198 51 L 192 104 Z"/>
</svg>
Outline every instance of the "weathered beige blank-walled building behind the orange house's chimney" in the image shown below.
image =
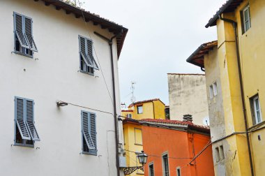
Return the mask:
<svg viewBox="0 0 265 176">
<path fill-rule="evenodd" d="M 209 125 L 205 75 L 168 73 L 167 78 L 170 119 L 190 114 L 195 124 Z"/>
</svg>

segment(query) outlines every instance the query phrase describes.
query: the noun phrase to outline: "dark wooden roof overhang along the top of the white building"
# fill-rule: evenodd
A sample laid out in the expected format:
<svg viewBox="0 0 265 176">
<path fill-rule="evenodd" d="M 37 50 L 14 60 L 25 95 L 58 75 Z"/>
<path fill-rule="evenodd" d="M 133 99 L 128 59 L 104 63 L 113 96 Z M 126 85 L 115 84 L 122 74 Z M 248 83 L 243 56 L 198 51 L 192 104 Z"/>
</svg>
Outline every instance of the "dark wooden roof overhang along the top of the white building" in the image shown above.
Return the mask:
<svg viewBox="0 0 265 176">
<path fill-rule="evenodd" d="M 40 1 L 40 0 L 34 0 L 34 1 Z M 123 47 L 123 42 L 126 38 L 128 29 L 122 27 L 119 24 L 111 22 L 103 17 L 100 17 L 99 15 L 90 13 L 89 11 L 77 8 L 75 6 L 71 6 L 70 4 L 65 3 L 61 0 L 41 0 L 41 1 L 44 1 L 45 6 L 53 5 L 55 6 L 56 10 L 63 9 L 66 11 L 67 15 L 73 13 L 76 18 L 82 17 L 84 18 L 85 22 L 93 22 L 93 25 L 100 25 L 102 29 L 108 29 L 109 32 L 112 32 L 114 35 L 117 35 L 116 36 L 117 54 L 118 57 L 120 56 L 121 49 Z"/>
</svg>

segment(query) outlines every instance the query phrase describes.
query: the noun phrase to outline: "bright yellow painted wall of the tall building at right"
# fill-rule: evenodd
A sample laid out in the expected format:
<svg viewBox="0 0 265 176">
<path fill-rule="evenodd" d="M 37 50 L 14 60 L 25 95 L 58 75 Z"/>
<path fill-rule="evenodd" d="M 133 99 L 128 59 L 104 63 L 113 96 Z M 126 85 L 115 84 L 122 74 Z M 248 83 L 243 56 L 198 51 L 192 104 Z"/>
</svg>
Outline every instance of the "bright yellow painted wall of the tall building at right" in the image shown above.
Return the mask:
<svg viewBox="0 0 265 176">
<path fill-rule="evenodd" d="M 251 28 L 242 33 L 241 10 L 250 5 Z M 250 98 L 259 95 L 259 103 L 262 110 L 262 118 L 265 119 L 265 1 L 243 1 L 236 8 L 234 13 L 223 14 L 225 18 L 234 20 L 238 24 L 239 33 L 239 55 L 241 72 L 243 76 L 243 91 L 245 108 L 248 118 L 248 130 L 255 130 L 265 126 L 264 120 L 253 126 Z M 241 91 L 239 85 L 239 71 L 236 60 L 236 46 L 234 39 L 234 29 L 232 24 L 217 21 L 218 67 L 211 66 L 211 58 L 205 59 L 206 73 L 213 73 L 212 70 L 218 69 L 220 72 L 220 89 L 222 89 L 222 105 L 224 113 L 225 135 L 233 132 L 245 131 L 243 119 L 243 105 L 241 102 Z M 207 57 L 206 57 L 207 58 Z M 214 59 L 213 59 L 214 60 Z M 208 70 L 207 70 L 208 69 Z M 215 71 L 216 72 L 216 71 Z M 208 75 L 208 78 L 209 75 Z M 206 74 L 207 80 L 207 74 Z M 211 129 L 215 131 L 217 129 Z M 258 135 L 260 140 L 258 139 Z M 251 175 L 250 161 L 248 157 L 248 147 L 246 135 L 233 135 L 224 140 L 226 149 L 225 171 L 227 175 Z M 252 161 L 254 164 L 255 175 L 265 173 L 265 129 L 250 133 L 250 145 L 252 150 Z M 233 156 L 234 155 L 234 156 Z M 215 165 L 215 171 L 218 165 Z M 215 172 L 218 175 L 218 173 Z"/>
</svg>

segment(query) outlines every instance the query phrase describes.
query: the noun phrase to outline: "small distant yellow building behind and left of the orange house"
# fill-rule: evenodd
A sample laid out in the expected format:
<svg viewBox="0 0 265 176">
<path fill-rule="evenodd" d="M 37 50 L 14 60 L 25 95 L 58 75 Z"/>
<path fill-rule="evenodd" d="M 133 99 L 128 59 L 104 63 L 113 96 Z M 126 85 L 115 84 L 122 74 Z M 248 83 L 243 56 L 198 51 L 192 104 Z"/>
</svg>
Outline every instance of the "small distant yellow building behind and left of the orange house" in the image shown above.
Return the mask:
<svg viewBox="0 0 265 176">
<path fill-rule="evenodd" d="M 165 119 L 165 103 L 162 103 L 158 98 L 138 101 L 129 105 L 128 110 L 122 110 L 121 115 L 127 117 L 123 119 L 123 137 L 127 167 L 141 166 L 137 159 L 137 153 L 143 149 L 142 126 L 138 120 Z M 130 175 L 144 175 L 144 172 L 138 169 Z"/>
</svg>

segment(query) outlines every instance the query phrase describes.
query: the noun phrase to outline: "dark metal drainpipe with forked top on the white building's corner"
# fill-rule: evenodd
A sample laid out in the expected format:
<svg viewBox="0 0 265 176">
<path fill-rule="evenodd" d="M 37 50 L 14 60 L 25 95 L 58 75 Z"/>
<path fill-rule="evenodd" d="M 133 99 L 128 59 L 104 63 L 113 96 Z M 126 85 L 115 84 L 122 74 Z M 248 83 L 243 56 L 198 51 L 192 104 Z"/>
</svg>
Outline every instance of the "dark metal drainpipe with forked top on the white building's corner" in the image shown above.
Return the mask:
<svg viewBox="0 0 265 176">
<path fill-rule="evenodd" d="M 122 31 L 121 31 L 122 32 Z M 120 176 L 120 169 L 119 169 L 119 134 L 118 134 L 118 126 L 117 126 L 117 112 L 116 112 L 116 89 L 115 89 L 115 76 L 114 76 L 114 61 L 113 61 L 113 52 L 112 52 L 112 44 L 113 39 L 116 38 L 119 34 L 112 36 L 112 38 L 107 38 L 98 32 L 94 32 L 97 36 L 100 38 L 103 38 L 107 43 L 109 43 L 109 49 L 110 49 L 110 59 L 112 61 L 112 89 L 113 89 L 113 103 L 114 103 L 114 126 L 115 126 L 115 140 L 116 140 L 116 168 L 117 168 L 117 175 Z"/>
</svg>

